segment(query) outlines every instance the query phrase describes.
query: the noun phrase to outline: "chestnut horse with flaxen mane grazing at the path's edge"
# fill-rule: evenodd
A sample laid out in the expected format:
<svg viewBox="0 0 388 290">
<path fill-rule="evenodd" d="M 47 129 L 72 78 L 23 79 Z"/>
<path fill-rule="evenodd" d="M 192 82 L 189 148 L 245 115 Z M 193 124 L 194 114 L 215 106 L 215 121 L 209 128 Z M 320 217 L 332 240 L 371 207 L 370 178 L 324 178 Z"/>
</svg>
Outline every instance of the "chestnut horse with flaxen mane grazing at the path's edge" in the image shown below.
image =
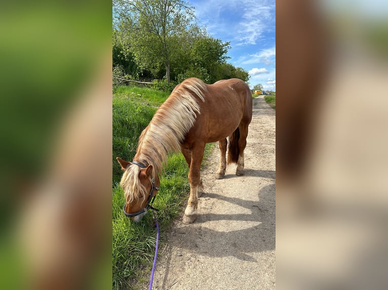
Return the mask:
<svg viewBox="0 0 388 290">
<path fill-rule="evenodd" d="M 198 78 L 188 78 L 178 84 L 140 134 L 133 161 L 116 158 L 124 170 L 120 182 L 126 198 L 124 213 L 139 222 L 147 209 L 153 209 L 151 204 L 159 191 L 159 173 L 167 164 L 167 155 L 180 151 L 189 167 L 190 183 L 183 223 L 195 221 L 206 143 L 218 141 L 219 144 L 217 179 L 225 175 L 226 149 L 227 164 L 237 163 L 236 175 L 243 175 L 251 120 L 251 91 L 240 79 L 206 84 Z"/>
</svg>

